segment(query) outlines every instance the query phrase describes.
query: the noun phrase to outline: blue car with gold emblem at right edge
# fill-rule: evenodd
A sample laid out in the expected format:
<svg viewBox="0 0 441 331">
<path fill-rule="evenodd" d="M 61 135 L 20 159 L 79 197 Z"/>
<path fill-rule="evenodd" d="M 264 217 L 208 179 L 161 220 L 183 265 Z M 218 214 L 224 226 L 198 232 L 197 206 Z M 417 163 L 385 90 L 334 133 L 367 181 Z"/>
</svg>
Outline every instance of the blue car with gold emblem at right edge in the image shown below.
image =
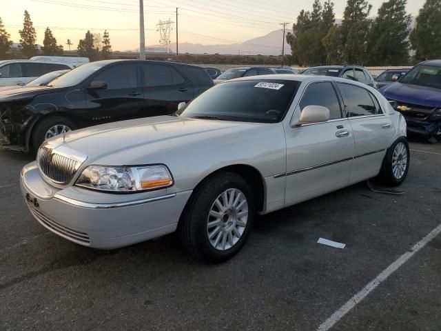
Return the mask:
<svg viewBox="0 0 441 331">
<path fill-rule="evenodd" d="M 404 116 L 409 134 L 441 140 L 441 60 L 419 63 L 380 92 Z"/>
</svg>

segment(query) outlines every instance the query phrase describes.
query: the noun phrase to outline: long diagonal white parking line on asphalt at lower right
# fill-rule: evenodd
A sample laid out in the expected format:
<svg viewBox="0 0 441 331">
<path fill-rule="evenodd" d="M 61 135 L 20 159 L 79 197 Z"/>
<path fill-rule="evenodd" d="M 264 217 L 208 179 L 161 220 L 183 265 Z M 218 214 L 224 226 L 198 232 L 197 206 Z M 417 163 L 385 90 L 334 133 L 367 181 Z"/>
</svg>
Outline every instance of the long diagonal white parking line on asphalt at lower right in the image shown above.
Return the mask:
<svg viewBox="0 0 441 331">
<path fill-rule="evenodd" d="M 334 314 L 332 314 L 331 317 L 329 317 L 329 319 L 321 323 L 318 326 L 317 331 L 327 331 L 330 328 L 332 328 L 334 324 L 340 321 L 340 319 L 342 319 L 342 317 L 344 317 L 352 308 L 358 305 L 358 303 L 360 303 L 362 299 L 365 299 L 365 297 L 367 297 L 367 295 L 370 292 L 375 290 L 375 288 L 378 285 L 380 285 L 380 283 L 385 281 L 387 277 L 393 274 L 393 272 L 398 270 L 398 268 L 400 268 L 404 263 L 406 263 L 407 260 L 413 257 L 413 254 L 421 250 L 425 245 L 427 245 L 427 243 L 429 243 L 433 238 L 438 236 L 438 234 L 440 233 L 441 233 L 441 224 L 438 225 L 438 227 L 436 227 L 432 232 L 427 234 L 426 237 L 424 237 L 423 239 L 418 241 L 418 243 L 413 245 L 413 247 L 410 250 L 402 254 L 402 256 L 399 257 L 391 265 L 389 265 L 389 267 L 387 267 L 380 274 L 378 274 L 378 276 L 375 279 L 373 279 L 373 281 L 371 281 L 369 284 L 367 284 L 365 288 L 363 288 L 360 292 L 358 292 L 356 295 L 351 297 L 351 299 L 349 299 L 347 303 L 342 305 L 336 312 L 334 312 Z"/>
</svg>

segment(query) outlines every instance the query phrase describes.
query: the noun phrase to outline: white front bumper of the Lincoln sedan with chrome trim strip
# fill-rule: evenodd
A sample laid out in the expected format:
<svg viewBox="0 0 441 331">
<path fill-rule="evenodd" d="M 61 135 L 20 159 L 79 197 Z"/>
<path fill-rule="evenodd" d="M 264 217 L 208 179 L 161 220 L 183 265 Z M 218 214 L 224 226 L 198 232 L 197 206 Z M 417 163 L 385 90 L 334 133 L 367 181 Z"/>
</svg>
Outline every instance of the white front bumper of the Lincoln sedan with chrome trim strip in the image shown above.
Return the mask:
<svg viewBox="0 0 441 331">
<path fill-rule="evenodd" d="M 96 203 L 63 195 L 40 176 L 36 163 L 25 166 L 20 187 L 30 212 L 41 225 L 81 245 L 100 249 L 120 248 L 174 232 L 192 191 L 162 194 L 147 199 Z M 119 199 L 121 201 L 119 201 Z"/>
</svg>

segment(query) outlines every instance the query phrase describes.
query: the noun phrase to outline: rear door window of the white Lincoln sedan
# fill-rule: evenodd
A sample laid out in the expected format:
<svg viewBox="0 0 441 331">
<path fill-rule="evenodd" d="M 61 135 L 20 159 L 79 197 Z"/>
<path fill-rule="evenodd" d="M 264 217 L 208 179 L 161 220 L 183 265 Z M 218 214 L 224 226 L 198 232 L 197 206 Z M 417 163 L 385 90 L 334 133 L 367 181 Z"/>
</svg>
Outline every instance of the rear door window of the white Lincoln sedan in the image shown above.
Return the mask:
<svg viewBox="0 0 441 331">
<path fill-rule="evenodd" d="M 347 117 L 378 114 L 370 93 L 364 88 L 345 83 L 338 83 L 346 99 Z"/>
</svg>

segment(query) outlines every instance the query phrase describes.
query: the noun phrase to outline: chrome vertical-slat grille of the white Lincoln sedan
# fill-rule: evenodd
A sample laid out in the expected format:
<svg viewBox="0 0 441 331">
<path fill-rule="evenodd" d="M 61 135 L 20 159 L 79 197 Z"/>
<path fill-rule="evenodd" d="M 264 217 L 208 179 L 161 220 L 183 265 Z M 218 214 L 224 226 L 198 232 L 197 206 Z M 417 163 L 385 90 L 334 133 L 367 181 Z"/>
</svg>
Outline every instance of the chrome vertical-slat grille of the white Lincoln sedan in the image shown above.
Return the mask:
<svg viewBox="0 0 441 331">
<path fill-rule="evenodd" d="M 64 156 L 54 151 L 50 146 L 41 146 L 37 156 L 40 172 L 59 185 L 65 185 L 72 181 L 76 170 L 84 160 L 79 161 Z"/>
</svg>

